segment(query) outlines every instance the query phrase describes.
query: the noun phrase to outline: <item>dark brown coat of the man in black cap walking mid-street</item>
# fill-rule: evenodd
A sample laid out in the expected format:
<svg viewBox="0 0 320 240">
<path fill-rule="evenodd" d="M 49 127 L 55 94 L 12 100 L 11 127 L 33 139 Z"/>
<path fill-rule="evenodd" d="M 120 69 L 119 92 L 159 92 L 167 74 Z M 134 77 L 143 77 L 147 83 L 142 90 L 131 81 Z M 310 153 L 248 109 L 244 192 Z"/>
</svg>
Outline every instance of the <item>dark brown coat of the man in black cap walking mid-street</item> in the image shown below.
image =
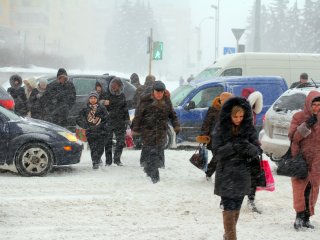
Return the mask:
<svg viewBox="0 0 320 240">
<path fill-rule="evenodd" d="M 167 139 L 168 121 L 179 127 L 177 115 L 169 97 L 157 101 L 149 94 L 141 99 L 133 119 L 133 131 L 141 133 L 147 146 L 164 146 Z"/>
</svg>

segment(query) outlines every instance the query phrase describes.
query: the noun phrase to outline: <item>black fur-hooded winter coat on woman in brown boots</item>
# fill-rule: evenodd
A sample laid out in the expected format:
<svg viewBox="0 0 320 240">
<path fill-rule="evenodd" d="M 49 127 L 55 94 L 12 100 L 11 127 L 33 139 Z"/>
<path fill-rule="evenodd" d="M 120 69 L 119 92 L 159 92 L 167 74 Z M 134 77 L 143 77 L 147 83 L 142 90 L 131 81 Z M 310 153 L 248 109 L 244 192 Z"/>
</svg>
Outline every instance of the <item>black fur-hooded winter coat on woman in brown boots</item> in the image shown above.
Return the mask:
<svg viewBox="0 0 320 240">
<path fill-rule="evenodd" d="M 240 105 L 245 110 L 236 136 L 233 134 L 231 120 L 231 109 L 235 105 Z M 219 121 L 212 133 L 212 151 L 217 160 L 214 189 L 216 195 L 235 198 L 250 193 L 251 166 L 257 160 L 248 155 L 248 149 L 256 150 L 257 157 L 262 153 L 259 145 L 249 103 L 240 97 L 229 99 L 223 105 Z"/>
</svg>

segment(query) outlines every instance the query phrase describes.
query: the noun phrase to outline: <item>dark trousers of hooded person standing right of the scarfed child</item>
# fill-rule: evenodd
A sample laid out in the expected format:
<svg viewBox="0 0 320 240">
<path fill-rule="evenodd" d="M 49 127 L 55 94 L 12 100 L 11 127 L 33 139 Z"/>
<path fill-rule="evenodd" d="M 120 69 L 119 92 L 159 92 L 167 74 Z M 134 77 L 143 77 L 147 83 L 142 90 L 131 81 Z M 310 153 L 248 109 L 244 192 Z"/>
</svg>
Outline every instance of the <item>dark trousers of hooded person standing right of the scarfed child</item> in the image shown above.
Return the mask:
<svg viewBox="0 0 320 240">
<path fill-rule="evenodd" d="M 106 147 L 105 147 L 105 155 L 106 155 L 106 164 L 112 164 L 112 139 L 113 133 L 116 137 L 116 147 L 114 150 L 113 162 L 120 163 L 120 158 L 122 155 L 122 150 L 125 146 L 125 134 L 126 128 L 123 127 L 114 127 L 108 129 L 108 134 L 106 136 Z"/>
</svg>

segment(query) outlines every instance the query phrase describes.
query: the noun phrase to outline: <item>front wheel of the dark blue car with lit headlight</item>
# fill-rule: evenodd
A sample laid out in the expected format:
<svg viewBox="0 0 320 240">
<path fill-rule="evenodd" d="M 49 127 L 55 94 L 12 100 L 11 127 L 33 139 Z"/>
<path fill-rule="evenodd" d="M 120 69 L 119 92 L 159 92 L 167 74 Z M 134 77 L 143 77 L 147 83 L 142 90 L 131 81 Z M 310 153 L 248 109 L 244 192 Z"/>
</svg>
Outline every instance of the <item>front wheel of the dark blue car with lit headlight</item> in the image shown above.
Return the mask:
<svg viewBox="0 0 320 240">
<path fill-rule="evenodd" d="M 43 143 L 27 143 L 19 150 L 15 165 L 22 176 L 44 176 L 52 168 L 52 151 Z"/>
</svg>

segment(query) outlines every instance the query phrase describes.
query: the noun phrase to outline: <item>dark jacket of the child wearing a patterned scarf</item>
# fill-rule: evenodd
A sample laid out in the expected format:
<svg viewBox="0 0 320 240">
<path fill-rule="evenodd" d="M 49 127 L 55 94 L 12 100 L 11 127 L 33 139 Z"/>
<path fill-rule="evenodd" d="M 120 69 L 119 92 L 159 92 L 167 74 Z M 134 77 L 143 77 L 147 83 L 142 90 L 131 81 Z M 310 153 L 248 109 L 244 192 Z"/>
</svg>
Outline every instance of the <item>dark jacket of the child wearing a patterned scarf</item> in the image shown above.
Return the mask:
<svg viewBox="0 0 320 240">
<path fill-rule="evenodd" d="M 104 106 L 98 104 L 95 116 L 101 119 L 99 125 L 95 125 L 92 122 L 88 121 L 88 114 L 91 111 L 89 104 L 86 108 L 83 108 L 76 119 L 76 123 L 83 129 L 86 130 L 87 136 L 97 136 L 97 135 L 106 135 L 107 134 L 107 124 L 109 122 L 109 116 Z"/>
</svg>

